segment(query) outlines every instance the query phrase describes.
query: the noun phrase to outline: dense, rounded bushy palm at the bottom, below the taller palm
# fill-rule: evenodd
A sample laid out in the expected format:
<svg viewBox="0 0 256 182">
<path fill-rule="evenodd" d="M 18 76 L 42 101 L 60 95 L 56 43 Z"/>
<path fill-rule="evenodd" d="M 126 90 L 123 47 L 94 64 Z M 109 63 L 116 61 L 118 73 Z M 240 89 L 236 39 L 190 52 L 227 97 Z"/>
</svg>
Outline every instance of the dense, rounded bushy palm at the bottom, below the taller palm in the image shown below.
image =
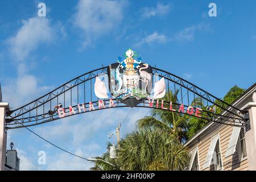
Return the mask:
<svg viewBox="0 0 256 182">
<path fill-rule="evenodd" d="M 158 129 L 133 131 L 121 140 L 118 149 L 123 170 L 183 170 L 189 157 L 186 147 Z"/>
</svg>

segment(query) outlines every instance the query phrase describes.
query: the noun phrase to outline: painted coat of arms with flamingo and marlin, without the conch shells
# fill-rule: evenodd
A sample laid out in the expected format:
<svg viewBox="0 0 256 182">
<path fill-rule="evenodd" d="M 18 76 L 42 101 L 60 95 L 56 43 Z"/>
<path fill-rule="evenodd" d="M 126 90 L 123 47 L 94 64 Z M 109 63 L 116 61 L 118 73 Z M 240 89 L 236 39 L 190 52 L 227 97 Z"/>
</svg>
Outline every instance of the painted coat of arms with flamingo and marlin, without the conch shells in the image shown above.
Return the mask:
<svg viewBox="0 0 256 182">
<path fill-rule="evenodd" d="M 126 59 L 108 67 L 109 90 L 114 98 L 129 107 L 137 106 L 150 98 L 152 89 L 152 68 L 126 51 Z M 128 52 L 128 53 L 127 53 Z M 120 59 L 120 57 L 119 57 Z"/>
</svg>

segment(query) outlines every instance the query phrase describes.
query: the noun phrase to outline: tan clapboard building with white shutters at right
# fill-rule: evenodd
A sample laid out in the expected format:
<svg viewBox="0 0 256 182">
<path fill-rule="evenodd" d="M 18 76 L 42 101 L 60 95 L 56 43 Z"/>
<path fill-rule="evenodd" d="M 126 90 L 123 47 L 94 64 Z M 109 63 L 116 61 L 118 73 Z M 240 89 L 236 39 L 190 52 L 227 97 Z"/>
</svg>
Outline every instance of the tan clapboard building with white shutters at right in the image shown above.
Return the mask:
<svg viewBox="0 0 256 182">
<path fill-rule="evenodd" d="M 184 144 L 191 152 L 189 170 L 256 170 L 256 83 L 232 106 L 248 111 L 250 128 L 208 123 Z"/>
</svg>

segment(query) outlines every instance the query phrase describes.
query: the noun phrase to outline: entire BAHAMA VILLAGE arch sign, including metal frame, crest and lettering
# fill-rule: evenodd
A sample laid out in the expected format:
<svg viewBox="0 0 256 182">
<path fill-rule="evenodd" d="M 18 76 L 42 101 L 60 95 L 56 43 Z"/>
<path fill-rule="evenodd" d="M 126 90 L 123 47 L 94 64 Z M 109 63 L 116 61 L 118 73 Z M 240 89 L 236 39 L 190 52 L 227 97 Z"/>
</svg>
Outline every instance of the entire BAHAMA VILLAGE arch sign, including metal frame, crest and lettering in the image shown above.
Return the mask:
<svg viewBox="0 0 256 182">
<path fill-rule="evenodd" d="M 177 96 L 179 103 L 172 103 L 170 97 L 164 97 L 166 92 L 175 93 L 176 90 L 180 92 Z M 184 96 L 187 98 L 184 99 Z M 75 100 L 72 99 L 74 97 Z M 192 103 L 195 98 L 199 104 Z M 40 125 L 79 113 L 127 106 L 175 111 L 224 124 L 231 121 L 230 125 L 238 127 L 241 127 L 241 123 L 246 125 L 245 114 L 240 109 L 181 77 L 150 67 L 135 51 L 128 49 L 114 64 L 84 73 L 24 106 L 7 111 L 6 129 Z M 216 113 L 216 107 L 228 114 Z M 217 121 L 216 118 L 221 119 Z"/>
</svg>

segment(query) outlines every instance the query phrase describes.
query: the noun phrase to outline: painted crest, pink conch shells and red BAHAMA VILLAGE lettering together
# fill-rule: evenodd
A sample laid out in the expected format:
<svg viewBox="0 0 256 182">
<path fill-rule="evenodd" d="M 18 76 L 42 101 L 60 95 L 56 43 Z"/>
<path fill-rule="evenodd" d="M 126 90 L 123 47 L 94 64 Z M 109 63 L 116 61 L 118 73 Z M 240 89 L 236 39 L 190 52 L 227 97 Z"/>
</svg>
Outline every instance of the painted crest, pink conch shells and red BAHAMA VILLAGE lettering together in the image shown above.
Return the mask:
<svg viewBox="0 0 256 182">
<path fill-rule="evenodd" d="M 147 63 L 142 63 L 141 57 L 135 55 L 132 49 L 128 49 L 125 52 L 124 59 L 118 57 L 117 63 L 110 64 L 108 67 L 108 87 L 115 100 L 119 100 L 129 107 L 135 107 L 147 100 L 148 107 L 177 111 L 189 115 L 195 114 L 196 117 L 201 117 L 202 109 L 198 107 L 188 106 L 185 108 L 183 104 L 180 104 L 179 109 L 173 109 L 172 102 L 170 102 L 167 108 L 164 106 L 164 100 L 160 100 L 161 103 L 159 104 L 159 99 L 163 98 L 166 94 L 164 78 L 155 82 L 154 85 L 154 96 L 150 98 L 152 90 L 152 68 Z M 104 100 L 109 98 L 108 89 L 105 82 L 99 77 L 96 77 L 94 83 L 94 94 L 100 98 L 96 105 L 93 105 L 93 102 L 90 101 L 88 106 L 85 103 L 78 104 L 76 109 L 69 106 L 68 113 L 65 113 L 65 109 L 61 105 L 56 106 L 59 117 L 63 118 L 67 115 L 86 112 L 86 108 L 88 108 L 88 111 L 105 109 Z M 112 98 L 109 99 L 109 107 L 115 107 Z"/>
</svg>

